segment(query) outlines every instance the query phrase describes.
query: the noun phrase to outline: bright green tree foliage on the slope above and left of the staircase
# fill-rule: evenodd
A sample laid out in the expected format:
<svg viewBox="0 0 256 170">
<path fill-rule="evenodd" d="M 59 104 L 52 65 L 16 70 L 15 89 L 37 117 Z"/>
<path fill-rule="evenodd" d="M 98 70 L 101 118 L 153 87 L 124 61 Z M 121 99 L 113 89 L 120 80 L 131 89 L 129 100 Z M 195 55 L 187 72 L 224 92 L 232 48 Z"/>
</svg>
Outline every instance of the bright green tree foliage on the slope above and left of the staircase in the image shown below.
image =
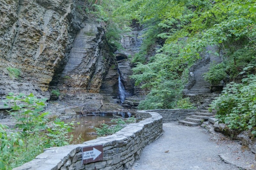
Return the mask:
<svg viewBox="0 0 256 170">
<path fill-rule="evenodd" d="M 163 103 L 166 94 L 172 103 L 169 98 L 180 99 L 181 93 L 175 99 L 172 88 L 162 84 L 182 80 L 185 70 L 202 56 L 208 45 L 219 46 L 226 62 L 212 67 L 206 79 L 212 84 L 226 75 L 236 79 L 246 64 L 255 60 L 252 54 L 252 49 L 256 49 L 255 6 L 253 0 L 131 0 L 118 8 L 116 16 L 121 15 L 130 22 L 135 19 L 147 28 L 142 36 L 142 51 L 133 60 L 140 62 L 133 70 L 136 85 L 151 91 L 139 108 L 148 108 L 154 100 L 154 108 L 174 108 L 175 104 Z M 141 58 L 150 54 L 156 44 L 162 48 L 145 63 Z M 245 59 L 249 53 L 250 61 Z M 214 72 L 216 68 L 218 71 Z M 178 89 L 185 83 L 182 81 Z"/>
</svg>

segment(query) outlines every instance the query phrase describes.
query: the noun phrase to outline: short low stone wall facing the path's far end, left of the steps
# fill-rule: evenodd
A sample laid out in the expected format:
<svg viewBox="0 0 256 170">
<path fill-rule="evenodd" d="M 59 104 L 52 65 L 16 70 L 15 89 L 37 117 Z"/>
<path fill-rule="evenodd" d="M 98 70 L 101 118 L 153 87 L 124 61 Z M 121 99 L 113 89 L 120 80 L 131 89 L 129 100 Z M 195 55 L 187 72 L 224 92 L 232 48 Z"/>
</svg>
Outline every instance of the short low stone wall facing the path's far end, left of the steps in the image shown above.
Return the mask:
<svg viewBox="0 0 256 170">
<path fill-rule="evenodd" d="M 147 112 L 157 112 L 163 117 L 163 123 L 170 121 L 178 121 L 185 119 L 190 112 L 195 112 L 195 109 L 159 109 L 147 110 Z"/>
</svg>

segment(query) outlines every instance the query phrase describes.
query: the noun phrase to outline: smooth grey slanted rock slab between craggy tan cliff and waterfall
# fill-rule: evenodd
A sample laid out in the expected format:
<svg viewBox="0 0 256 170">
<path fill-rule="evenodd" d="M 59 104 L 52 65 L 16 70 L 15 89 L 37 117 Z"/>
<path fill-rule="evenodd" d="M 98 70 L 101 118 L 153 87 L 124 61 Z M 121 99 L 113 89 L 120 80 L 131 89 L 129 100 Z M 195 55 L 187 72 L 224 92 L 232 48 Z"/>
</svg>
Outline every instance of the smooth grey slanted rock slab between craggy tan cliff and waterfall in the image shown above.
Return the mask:
<svg viewBox="0 0 256 170">
<path fill-rule="evenodd" d="M 56 78 L 56 87 L 65 93 L 99 93 L 114 57 L 109 54 L 105 42 L 104 26 L 84 21 L 77 33 L 68 62 Z M 116 70 L 117 72 L 117 70 Z"/>
</svg>

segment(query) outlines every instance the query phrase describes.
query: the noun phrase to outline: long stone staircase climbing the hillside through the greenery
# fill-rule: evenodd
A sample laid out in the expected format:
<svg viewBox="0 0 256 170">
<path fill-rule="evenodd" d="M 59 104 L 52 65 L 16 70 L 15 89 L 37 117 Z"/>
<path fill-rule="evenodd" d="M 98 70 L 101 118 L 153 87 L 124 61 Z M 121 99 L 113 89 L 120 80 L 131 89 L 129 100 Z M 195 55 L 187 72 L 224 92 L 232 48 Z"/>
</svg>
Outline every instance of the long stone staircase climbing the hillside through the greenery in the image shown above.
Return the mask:
<svg viewBox="0 0 256 170">
<path fill-rule="evenodd" d="M 201 125 L 205 120 L 215 117 L 216 111 L 209 111 L 209 105 L 212 103 L 218 94 L 211 93 L 210 83 L 204 80 L 203 74 L 210 70 L 210 66 L 214 64 L 219 64 L 222 59 L 214 52 L 217 50 L 217 46 L 206 48 L 207 51 L 212 51 L 211 54 L 205 54 L 205 58 L 198 62 L 193 70 L 190 72 L 190 78 L 192 79 L 188 85 L 187 89 L 184 90 L 185 96 L 193 98 L 202 98 L 200 105 L 197 106 L 195 112 L 189 112 L 189 115 L 185 120 L 179 120 L 180 125 L 186 126 L 197 126 Z"/>
</svg>

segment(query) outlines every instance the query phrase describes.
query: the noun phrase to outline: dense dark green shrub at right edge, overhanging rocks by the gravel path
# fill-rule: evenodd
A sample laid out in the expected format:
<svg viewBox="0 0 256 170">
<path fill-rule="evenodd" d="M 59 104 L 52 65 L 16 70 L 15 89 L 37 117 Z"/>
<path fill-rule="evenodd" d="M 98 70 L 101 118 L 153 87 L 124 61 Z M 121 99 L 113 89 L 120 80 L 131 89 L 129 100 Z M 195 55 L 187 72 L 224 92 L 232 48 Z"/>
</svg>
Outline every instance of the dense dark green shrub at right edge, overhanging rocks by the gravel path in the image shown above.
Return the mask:
<svg viewBox="0 0 256 170">
<path fill-rule="evenodd" d="M 256 76 L 249 74 L 243 83 L 231 82 L 222 94 L 213 101 L 220 123 L 237 131 L 252 130 L 256 135 Z"/>
</svg>

